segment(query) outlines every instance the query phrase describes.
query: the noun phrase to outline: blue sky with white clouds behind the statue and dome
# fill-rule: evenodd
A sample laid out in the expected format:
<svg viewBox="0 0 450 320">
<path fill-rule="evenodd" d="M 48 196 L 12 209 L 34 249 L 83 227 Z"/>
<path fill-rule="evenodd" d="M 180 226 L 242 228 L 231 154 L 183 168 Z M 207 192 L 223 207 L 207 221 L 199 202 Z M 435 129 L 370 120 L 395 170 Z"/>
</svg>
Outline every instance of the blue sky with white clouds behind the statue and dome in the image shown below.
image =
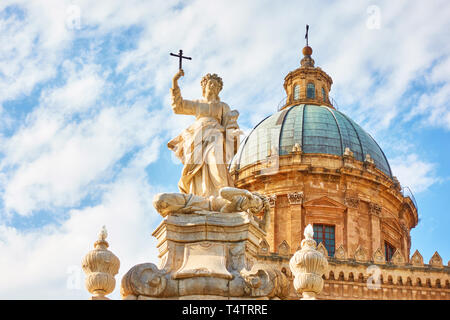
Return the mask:
<svg viewBox="0 0 450 320">
<path fill-rule="evenodd" d="M 122 275 L 156 262 L 154 194 L 177 191 L 167 142 L 183 49 L 186 98 L 218 73 L 248 133 L 276 111 L 304 28 L 339 110 L 384 150 L 420 222 L 411 254 L 450 259 L 448 1 L 0 2 L 0 298 L 85 299 L 102 225 Z M 118 286 L 112 297 L 118 298 Z"/>
</svg>

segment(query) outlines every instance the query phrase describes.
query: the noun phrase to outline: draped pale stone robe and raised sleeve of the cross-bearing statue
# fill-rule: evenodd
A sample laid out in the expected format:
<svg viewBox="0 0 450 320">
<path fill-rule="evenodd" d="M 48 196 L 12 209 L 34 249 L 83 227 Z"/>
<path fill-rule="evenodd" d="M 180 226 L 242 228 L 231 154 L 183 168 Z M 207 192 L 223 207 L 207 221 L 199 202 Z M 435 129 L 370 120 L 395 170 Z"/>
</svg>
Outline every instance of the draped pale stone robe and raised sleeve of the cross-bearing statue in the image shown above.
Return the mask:
<svg viewBox="0 0 450 320">
<path fill-rule="evenodd" d="M 233 135 L 239 113 L 220 101 L 183 100 L 179 88 L 171 91 L 173 111 L 196 117 L 167 144 L 184 165 L 178 187 L 182 193 L 218 196 L 220 188 L 234 186 L 228 163 L 239 144 L 239 135 Z"/>
</svg>

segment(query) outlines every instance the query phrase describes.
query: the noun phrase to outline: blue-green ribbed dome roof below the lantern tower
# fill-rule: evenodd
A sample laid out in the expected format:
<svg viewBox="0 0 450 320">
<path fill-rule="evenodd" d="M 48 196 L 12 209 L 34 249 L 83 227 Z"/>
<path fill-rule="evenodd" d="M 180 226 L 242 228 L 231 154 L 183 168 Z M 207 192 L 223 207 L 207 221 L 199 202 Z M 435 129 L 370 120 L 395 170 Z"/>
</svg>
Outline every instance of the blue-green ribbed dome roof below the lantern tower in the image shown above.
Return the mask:
<svg viewBox="0 0 450 320">
<path fill-rule="evenodd" d="M 375 140 L 342 112 L 326 106 L 300 104 L 283 109 L 263 121 L 244 139 L 231 167 L 243 168 L 278 152 L 292 152 L 295 144 L 303 153 L 342 156 L 350 148 L 356 160 L 369 154 L 375 166 L 392 178 L 391 168 Z"/>
</svg>

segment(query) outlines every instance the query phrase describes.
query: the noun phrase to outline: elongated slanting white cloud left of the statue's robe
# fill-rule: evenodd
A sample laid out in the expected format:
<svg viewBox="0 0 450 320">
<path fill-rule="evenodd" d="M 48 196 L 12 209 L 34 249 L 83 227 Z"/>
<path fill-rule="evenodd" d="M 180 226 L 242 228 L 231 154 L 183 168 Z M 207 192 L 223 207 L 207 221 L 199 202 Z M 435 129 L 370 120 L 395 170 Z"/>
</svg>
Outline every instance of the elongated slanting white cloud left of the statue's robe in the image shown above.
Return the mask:
<svg viewBox="0 0 450 320">
<path fill-rule="evenodd" d="M 159 131 L 148 125 L 159 117 L 139 106 L 105 108 L 92 119 L 67 123 L 50 134 L 41 125 L 46 123 L 45 113 L 42 117 L 37 117 L 36 126 L 27 128 L 24 138 L 12 139 L 8 148 L 16 170 L 8 174 L 5 184 L 5 208 L 21 215 L 76 205 L 91 189 L 98 188 L 91 183 L 108 180 L 126 152 L 149 143 Z M 37 152 L 30 159 L 28 137 L 34 136 L 50 139 L 36 146 Z M 6 152 L 3 163 L 11 159 Z"/>
</svg>

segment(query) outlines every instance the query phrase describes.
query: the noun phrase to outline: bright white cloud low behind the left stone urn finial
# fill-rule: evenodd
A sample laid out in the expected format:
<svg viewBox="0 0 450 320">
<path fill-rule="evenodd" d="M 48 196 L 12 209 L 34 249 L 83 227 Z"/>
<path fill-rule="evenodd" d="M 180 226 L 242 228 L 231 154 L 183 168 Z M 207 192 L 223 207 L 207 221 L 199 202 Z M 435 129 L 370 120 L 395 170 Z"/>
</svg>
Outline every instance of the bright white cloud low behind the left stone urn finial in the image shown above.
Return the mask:
<svg viewBox="0 0 450 320">
<path fill-rule="evenodd" d="M 102 225 L 109 249 L 120 259 L 116 289 L 135 264 L 157 262 L 152 228 L 161 219 L 151 205 L 151 187 L 136 176 L 119 178 L 100 205 L 72 210 L 62 226 L 20 232 L 0 225 L 0 298 L 87 299 L 81 260 L 93 249 Z"/>
</svg>

